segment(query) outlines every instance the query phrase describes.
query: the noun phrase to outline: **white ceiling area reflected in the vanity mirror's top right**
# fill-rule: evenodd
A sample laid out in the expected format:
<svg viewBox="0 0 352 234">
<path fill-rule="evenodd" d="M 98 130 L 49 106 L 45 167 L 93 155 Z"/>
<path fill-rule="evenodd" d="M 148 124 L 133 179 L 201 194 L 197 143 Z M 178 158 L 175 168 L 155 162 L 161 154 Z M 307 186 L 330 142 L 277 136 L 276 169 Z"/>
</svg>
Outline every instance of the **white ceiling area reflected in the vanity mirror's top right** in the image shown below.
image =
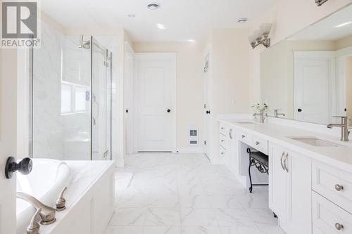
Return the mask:
<svg viewBox="0 0 352 234">
<path fill-rule="evenodd" d="M 352 22 L 352 5 L 306 27 L 289 39 L 336 41 L 352 34 L 352 23 L 344 27 L 335 27 L 344 22 Z"/>
</svg>

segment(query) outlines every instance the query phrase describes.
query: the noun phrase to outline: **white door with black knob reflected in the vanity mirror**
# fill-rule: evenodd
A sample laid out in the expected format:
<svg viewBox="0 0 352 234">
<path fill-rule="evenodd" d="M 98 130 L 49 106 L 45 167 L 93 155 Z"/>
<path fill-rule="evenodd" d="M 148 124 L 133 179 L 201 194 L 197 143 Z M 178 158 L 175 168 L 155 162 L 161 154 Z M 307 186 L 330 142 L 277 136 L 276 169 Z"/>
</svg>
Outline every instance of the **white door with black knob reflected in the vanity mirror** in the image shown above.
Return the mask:
<svg viewBox="0 0 352 234">
<path fill-rule="evenodd" d="M 334 97 L 333 68 L 329 53 L 295 53 L 295 119 L 319 124 L 330 122 Z"/>
</svg>

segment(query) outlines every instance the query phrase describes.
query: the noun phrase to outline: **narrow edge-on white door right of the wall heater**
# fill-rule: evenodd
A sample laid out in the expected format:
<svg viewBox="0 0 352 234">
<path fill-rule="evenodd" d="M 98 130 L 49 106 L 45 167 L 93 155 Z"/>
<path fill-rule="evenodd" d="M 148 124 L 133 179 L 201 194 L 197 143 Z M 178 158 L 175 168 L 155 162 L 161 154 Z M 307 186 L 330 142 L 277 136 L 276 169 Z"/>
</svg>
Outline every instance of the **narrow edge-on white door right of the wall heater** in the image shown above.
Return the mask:
<svg viewBox="0 0 352 234">
<path fill-rule="evenodd" d="M 203 124 L 204 124 L 204 153 L 209 157 L 209 132 L 210 132 L 210 103 L 209 103 L 209 53 L 204 58 L 204 80 L 203 80 Z"/>
</svg>

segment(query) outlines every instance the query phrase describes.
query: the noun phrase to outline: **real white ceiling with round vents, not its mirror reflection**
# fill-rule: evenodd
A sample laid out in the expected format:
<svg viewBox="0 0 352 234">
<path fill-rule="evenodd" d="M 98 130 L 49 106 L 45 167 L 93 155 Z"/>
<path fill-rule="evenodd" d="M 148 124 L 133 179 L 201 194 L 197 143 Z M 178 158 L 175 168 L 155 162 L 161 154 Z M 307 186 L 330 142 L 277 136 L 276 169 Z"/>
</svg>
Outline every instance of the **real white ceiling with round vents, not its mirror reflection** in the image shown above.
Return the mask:
<svg viewBox="0 0 352 234">
<path fill-rule="evenodd" d="M 249 27 L 277 0 L 158 0 L 150 11 L 148 0 L 43 0 L 42 10 L 68 28 L 124 27 L 133 41 L 204 40 L 212 28 Z M 135 18 L 127 17 L 136 15 Z M 237 18 L 249 22 L 237 23 Z M 157 23 L 165 25 L 159 30 Z"/>
</svg>

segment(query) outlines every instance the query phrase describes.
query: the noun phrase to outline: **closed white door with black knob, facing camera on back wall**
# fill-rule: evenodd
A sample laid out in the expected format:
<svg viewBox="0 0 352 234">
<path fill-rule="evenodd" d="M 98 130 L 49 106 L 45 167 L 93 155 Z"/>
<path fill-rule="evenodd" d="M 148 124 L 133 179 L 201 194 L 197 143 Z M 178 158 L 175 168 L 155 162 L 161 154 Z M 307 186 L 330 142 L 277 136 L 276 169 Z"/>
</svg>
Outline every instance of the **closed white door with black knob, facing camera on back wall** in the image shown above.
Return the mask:
<svg viewBox="0 0 352 234">
<path fill-rule="evenodd" d="M 176 54 L 136 53 L 138 152 L 176 148 Z"/>
</svg>

